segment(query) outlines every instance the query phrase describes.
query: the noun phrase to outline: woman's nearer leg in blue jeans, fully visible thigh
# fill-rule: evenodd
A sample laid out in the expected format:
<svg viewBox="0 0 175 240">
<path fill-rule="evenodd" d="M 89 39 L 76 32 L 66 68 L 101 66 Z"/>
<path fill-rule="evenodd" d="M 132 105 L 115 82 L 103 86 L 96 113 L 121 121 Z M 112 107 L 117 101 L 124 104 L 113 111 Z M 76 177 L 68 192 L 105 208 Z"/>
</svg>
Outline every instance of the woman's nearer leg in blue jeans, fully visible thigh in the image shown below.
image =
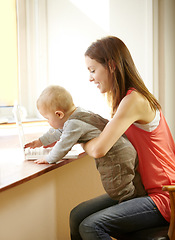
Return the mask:
<svg viewBox="0 0 175 240">
<path fill-rule="evenodd" d="M 146 196 L 89 215 L 81 222 L 79 232 L 83 240 L 111 240 L 110 236 L 120 239 L 129 232 L 166 224 L 152 199 Z"/>
</svg>

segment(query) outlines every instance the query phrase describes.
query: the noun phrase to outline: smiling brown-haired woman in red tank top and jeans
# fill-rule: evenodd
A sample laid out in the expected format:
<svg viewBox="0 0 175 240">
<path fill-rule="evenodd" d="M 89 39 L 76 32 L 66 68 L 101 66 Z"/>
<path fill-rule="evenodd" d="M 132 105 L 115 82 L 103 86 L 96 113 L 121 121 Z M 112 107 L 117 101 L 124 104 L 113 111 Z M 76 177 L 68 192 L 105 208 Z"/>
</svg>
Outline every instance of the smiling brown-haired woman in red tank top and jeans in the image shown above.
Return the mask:
<svg viewBox="0 0 175 240">
<path fill-rule="evenodd" d="M 175 184 L 175 143 L 160 104 L 117 37 L 92 43 L 85 62 L 90 81 L 107 94 L 112 120 L 84 149 L 94 158 L 102 157 L 125 133 L 137 150 L 148 196 L 117 203 L 105 195 L 80 204 L 70 215 L 72 240 L 124 239 L 134 231 L 167 225 L 170 199 L 162 186 Z"/>
</svg>

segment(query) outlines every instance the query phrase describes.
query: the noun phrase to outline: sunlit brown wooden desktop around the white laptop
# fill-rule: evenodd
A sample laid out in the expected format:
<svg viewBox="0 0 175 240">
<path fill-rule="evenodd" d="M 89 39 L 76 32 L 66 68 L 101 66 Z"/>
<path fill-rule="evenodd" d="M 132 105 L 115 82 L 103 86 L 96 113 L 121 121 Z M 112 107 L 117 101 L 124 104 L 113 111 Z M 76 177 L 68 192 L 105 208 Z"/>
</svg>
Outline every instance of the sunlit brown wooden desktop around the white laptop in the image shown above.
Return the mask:
<svg viewBox="0 0 175 240">
<path fill-rule="evenodd" d="M 28 139 L 33 139 L 45 132 L 46 122 L 26 123 L 25 130 Z M 34 132 L 37 129 L 38 133 Z M 61 160 L 57 164 L 36 164 L 23 160 L 15 124 L 0 126 L 0 192 L 30 181 L 42 174 L 62 167 L 76 159 Z M 80 153 L 79 158 L 85 153 Z"/>
</svg>

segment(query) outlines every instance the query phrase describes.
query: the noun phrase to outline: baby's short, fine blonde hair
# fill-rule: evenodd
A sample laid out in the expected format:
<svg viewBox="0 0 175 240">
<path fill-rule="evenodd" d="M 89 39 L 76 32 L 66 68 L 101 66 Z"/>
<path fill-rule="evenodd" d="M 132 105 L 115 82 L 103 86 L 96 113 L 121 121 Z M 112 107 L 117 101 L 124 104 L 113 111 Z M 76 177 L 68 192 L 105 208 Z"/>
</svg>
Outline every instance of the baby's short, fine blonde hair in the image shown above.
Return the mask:
<svg viewBox="0 0 175 240">
<path fill-rule="evenodd" d="M 43 90 L 37 100 L 37 108 L 47 111 L 69 112 L 74 106 L 71 94 L 63 87 L 52 85 Z"/>
</svg>

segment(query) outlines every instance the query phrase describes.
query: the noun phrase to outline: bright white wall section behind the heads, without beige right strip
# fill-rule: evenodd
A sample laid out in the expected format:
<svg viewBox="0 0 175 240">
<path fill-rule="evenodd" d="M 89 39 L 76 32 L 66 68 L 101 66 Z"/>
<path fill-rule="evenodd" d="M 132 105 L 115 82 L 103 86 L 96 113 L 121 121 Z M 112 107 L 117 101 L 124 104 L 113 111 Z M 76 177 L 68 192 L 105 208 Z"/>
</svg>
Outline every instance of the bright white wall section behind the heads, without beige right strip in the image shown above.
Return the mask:
<svg viewBox="0 0 175 240">
<path fill-rule="evenodd" d="M 89 73 L 84 63 L 87 47 L 106 35 L 118 36 L 126 43 L 138 71 L 152 91 L 151 0 L 24 2 L 26 29 L 29 30 L 26 30 L 27 57 L 20 61 L 27 68 L 27 71 L 25 67 L 21 68 L 21 83 L 27 81 L 29 91 L 21 93 L 21 102 L 31 116 L 36 114 L 33 107 L 36 98 L 48 84 L 65 86 L 72 93 L 76 105 L 109 116 L 106 102 L 88 81 Z M 24 14 L 24 10 L 19 15 Z M 28 72 L 26 78 L 25 72 Z"/>
</svg>

